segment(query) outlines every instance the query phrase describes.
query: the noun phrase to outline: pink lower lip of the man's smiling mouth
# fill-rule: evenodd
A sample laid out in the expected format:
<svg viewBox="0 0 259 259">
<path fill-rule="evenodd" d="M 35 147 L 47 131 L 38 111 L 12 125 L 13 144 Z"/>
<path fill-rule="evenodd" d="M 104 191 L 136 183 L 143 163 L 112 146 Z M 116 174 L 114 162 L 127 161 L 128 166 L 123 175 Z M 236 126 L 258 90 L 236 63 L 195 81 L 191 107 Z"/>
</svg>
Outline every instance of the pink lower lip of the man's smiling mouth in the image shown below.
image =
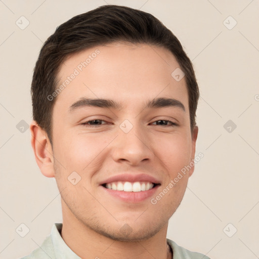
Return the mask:
<svg viewBox="0 0 259 259">
<path fill-rule="evenodd" d="M 103 186 L 101 186 L 101 187 L 104 189 L 104 191 L 107 194 L 110 194 L 115 198 L 118 198 L 124 202 L 137 203 L 137 202 L 144 201 L 144 200 L 148 199 L 149 197 L 153 196 L 159 186 L 160 185 L 156 185 L 154 188 L 152 188 L 148 191 L 140 191 L 140 192 L 115 191 L 112 189 L 105 188 Z"/>
</svg>

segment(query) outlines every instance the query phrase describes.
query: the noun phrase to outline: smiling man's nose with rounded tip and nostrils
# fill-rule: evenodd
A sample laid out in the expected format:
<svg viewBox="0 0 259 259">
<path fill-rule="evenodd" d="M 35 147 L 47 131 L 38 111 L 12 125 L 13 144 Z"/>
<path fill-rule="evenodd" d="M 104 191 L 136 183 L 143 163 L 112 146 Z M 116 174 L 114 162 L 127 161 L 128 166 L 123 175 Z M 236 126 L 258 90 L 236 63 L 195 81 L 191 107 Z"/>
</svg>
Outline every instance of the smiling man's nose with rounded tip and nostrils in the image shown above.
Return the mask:
<svg viewBox="0 0 259 259">
<path fill-rule="evenodd" d="M 116 162 L 124 161 L 130 165 L 150 161 L 154 158 L 150 143 L 147 134 L 138 129 L 137 126 L 134 126 L 128 133 L 119 129 L 118 137 L 113 142 L 113 160 Z"/>
</svg>

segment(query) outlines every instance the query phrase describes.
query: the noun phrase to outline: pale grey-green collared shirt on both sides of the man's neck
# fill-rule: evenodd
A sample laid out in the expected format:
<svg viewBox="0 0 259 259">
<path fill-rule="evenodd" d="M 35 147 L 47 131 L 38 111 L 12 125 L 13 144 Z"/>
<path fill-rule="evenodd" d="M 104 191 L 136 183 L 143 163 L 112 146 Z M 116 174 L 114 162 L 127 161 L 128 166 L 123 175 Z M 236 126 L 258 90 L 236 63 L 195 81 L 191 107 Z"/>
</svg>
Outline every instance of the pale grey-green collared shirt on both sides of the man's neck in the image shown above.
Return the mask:
<svg viewBox="0 0 259 259">
<path fill-rule="evenodd" d="M 51 235 L 44 240 L 42 245 L 21 259 L 80 259 L 61 237 L 62 226 L 62 223 L 55 223 Z M 206 255 L 191 252 L 168 238 L 166 241 L 172 249 L 172 259 L 209 259 Z"/>
</svg>

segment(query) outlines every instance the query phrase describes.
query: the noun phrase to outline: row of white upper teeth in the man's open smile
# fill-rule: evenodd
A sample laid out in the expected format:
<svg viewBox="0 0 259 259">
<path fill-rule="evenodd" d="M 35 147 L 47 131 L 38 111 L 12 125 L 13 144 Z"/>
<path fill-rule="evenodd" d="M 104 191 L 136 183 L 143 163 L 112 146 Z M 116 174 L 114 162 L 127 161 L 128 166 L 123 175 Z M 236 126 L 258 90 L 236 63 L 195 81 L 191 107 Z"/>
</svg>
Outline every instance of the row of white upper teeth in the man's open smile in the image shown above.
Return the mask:
<svg viewBox="0 0 259 259">
<path fill-rule="evenodd" d="M 106 188 L 124 191 L 124 192 L 140 192 L 140 191 L 148 191 L 154 187 L 154 184 L 151 182 L 112 182 L 105 185 Z"/>
</svg>

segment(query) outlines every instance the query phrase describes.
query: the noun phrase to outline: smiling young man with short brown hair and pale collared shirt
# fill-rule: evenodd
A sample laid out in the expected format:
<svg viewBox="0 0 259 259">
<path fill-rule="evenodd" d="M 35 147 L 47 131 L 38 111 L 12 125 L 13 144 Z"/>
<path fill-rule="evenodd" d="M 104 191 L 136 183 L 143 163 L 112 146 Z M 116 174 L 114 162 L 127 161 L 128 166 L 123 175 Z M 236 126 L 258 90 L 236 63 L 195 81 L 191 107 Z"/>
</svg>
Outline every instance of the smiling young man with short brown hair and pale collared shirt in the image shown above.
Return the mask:
<svg viewBox="0 0 259 259">
<path fill-rule="evenodd" d="M 31 144 L 63 224 L 24 258 L 208 258 L 166 239 L 194 170 L 199 98 L 170 30 L 128 7 L 75 16 L 42 47 L 31 93 Z"/>
</svg>

